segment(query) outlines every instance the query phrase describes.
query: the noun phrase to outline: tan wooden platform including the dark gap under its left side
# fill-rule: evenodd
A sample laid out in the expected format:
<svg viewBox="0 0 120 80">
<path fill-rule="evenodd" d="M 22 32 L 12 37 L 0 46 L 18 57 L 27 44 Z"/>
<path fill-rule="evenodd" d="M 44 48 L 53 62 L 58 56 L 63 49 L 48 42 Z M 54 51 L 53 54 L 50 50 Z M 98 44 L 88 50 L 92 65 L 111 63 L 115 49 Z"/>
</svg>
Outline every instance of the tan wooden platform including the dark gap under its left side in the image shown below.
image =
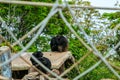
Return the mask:
<svg viewBox="0 0 120 80">
<path fill-rule="evenodd" d="M 20 57 L 12 61 L 11 68 L 12 68 L 14 79 L 22 79 L 25 75 L 27 75 L 30 72 L 30 69 L 32 68 L 32 63 L 30 61 L 30 57 L 32 53 L 33 52 L 25 52 Z M 56 69 L 58 71 L 61 68 L 65 68 L 64 65 L 67 63 L 67 61 L 73 62 L 74 60 L 71 52 L 69 51 L 61 52 L 61 53 L 60 52 L 43 52 L 43 54 L 44 54 L 44 57 L 48 58 L 51 61 L 52 63 L 51 68 Z M 27 63 L 25 61 L 27 61 Z"/>
</svg>

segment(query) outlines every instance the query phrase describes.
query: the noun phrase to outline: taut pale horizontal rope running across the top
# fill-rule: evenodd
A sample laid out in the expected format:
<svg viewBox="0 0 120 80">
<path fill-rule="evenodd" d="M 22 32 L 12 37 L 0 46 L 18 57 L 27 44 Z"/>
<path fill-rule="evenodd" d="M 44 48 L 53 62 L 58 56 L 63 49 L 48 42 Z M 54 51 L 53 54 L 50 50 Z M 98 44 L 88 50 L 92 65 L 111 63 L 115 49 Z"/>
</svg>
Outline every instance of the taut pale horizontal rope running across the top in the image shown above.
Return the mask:
<svg viewBox="0 0 120 80">
<path fill-rule="evenodd" d="M 19 5 L 31 5 L 31 6 L 46 6 L 52 7 L 53 3 L 45 2 L 31 2 L 31 1 L 16 1 L 16 0 L 0 0 L 0 3 L 6 4 L 19 4 Z M 64 5 L 58 5 L 59 8 L 64 8 Z M 84 9 L 102 9 L 102 10 L 120 10 L 118 7 L 99 7 L 99 6 L 80 6 L 80 5 L 70 5 L 71 8 L 84 8 Z"/>
</svg>

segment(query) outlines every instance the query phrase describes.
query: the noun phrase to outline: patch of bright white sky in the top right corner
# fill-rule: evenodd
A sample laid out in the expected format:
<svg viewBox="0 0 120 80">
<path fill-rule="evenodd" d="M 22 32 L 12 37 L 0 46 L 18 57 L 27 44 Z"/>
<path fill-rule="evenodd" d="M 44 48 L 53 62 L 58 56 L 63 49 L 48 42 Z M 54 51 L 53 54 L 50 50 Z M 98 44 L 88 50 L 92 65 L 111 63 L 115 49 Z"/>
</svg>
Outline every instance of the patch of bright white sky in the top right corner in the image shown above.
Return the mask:
<svg viewBox="0 0 120 80">
<path fill-rule="evenodd" d="M 115 3 L 120 0 L 83 0 L 83 1 L 90 1 L 92 6 L 100 6 L 100 7 L 115 7 Z M 100 10 L 101 13 L 103 12 L 115 12 L 115 10 Z"/>
</svg>

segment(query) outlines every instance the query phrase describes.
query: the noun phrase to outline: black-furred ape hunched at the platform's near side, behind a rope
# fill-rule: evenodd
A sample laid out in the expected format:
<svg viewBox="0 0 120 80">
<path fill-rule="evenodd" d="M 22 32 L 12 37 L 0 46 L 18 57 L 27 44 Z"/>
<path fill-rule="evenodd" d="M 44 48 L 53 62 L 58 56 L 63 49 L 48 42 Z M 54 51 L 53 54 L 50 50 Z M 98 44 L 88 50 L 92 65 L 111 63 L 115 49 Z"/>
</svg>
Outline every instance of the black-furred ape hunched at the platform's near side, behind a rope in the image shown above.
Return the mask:
<svg viewBox="0 0 120 80">
<path fill-rule="evenodd" d="M 48 69 L 51 69 L 51 62 L 48 58 L 43 57 L 43 53 L 40 51 L 34 52 L 32 54 L 35 58 L 37 58 L 38 61 L 40 61 L 44 66 L 46 66 Z M 47 71 L 42 68 L 32 57 L 30 58 L 30 61 L 32 62 L 32 64 L 39 69 L 40 71 L 42 71 L 43 73 L 47 73 Z"/>
</svg>

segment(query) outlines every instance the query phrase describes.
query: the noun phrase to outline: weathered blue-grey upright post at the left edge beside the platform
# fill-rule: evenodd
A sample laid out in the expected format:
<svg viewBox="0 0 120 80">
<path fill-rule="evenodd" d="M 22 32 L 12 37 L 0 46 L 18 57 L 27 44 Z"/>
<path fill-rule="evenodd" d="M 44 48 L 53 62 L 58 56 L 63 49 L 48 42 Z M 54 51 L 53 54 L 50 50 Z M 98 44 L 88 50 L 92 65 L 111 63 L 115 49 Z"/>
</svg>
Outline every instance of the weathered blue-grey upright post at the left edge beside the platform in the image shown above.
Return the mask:
<svg viewBox="0 0 120 80">
<path fill-rule="evenodd" d="M 7 51 L 5 51 L 4 53 L 2 53 L 2 55 L 0 55 L 0 64 L 7 61 L 11 57 L 11 50 L 7 46 L 0 47 L 0 52 L 4 51 L 6 49 L 7 49 Z M 1 67 L 1 75 L 9 78 L 9 80 L 12 79 L 11 63 L 8 63 Z"/>
</svg>

